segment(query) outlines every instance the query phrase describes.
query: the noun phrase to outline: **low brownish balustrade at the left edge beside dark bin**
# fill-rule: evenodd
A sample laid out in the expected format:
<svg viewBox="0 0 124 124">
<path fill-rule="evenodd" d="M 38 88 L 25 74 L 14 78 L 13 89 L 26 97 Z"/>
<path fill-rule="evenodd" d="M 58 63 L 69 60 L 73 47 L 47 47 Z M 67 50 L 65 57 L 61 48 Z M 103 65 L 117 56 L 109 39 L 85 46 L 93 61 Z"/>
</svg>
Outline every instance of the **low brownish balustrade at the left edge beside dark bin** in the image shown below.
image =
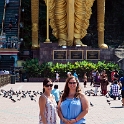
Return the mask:
<svg viewBox="0 0 124 124">
<path fill-rule="evenodd" d="M 0 87 L 11 83 L 11 75 L 10 74 L 0 74 Z"/>
</svg>

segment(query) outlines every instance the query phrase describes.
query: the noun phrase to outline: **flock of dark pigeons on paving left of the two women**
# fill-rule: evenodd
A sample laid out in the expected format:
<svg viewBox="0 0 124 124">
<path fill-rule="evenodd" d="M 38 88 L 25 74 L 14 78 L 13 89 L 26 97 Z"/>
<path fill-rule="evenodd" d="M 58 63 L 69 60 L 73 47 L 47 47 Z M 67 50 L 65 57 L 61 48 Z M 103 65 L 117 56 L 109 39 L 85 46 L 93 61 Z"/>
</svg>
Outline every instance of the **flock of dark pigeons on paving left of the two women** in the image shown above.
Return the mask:
<svg viewBox="0 0 124 124">
<path fill-rule="evenodd" d="M 38 95 L 42 95 L 42 92 L 39 91 L 14 91 L 12 88 L 8 91 L 1 89 L 0 90 L 0 96 L 2 96 L 3 98 L 8 98 L 10 99 L 12 102 L 17 102 L 20 101 L 23 98 L 27 98 L 29 97 L 31 99 L 31 101 L 35 101 L 36 102 L 36 97 Z"/>
</svg>

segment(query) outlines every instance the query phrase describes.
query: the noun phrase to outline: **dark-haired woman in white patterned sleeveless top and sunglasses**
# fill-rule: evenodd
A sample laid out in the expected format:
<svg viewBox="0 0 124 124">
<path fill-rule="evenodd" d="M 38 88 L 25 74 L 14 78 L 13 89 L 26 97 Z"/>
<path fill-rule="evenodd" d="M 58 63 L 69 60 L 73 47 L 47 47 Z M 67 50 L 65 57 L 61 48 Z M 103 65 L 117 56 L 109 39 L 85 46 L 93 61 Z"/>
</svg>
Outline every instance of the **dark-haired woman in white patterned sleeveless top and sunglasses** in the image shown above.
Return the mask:
<svg viewBox="0 0 124 124">
<path fill-rule="evenodd" d="M 39 124 L 57 124 L 57 104 L 51 94 L 52 86 L 51 79 L 43 81 L 43 94 L 39 98 Z"/>
</svg>

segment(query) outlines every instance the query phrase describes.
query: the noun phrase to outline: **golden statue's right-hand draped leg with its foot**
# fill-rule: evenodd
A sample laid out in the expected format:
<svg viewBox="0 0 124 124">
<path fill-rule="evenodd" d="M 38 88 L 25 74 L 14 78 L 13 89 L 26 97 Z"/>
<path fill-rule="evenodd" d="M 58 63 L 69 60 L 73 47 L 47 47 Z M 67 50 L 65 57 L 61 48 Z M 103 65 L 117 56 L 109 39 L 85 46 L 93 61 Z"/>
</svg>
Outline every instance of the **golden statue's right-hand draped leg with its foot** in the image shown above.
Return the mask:
<svg viewBox="0 0 124 124">
<path fill-rule="evenodd" d="M 82 32 L 84 36 L 86 35 L 86 29 L 84 28 L 86 15 L 85 8 L 85 0 L 75 0 L 74 45 L 86 46 L 81 42 Z"/>
</svg>

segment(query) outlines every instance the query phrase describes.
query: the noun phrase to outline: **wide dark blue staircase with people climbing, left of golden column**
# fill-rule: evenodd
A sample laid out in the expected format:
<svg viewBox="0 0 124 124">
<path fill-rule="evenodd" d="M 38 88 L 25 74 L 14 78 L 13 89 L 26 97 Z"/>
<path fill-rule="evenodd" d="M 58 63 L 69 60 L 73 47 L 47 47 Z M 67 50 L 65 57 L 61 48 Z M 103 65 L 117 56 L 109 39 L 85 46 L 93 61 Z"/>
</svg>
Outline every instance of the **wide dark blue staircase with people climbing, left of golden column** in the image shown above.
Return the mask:
<svg viewBox="0 0 124 124">
<path fill-rule="evenodd" d="M 15 14 L 19 16 L 20 9 L 20 0 L 9 0 L 9 5 L 6 7 L 6 15 L 5 15 L 5 33 L 6 37 L 17 36 L 18 37 L 18 24 L 15 25 Z M 9 29 L 9 19 L 12 19 L 12 29 Z M 19 17 L 18 17 L 19 18 Z"/>
</svg>

